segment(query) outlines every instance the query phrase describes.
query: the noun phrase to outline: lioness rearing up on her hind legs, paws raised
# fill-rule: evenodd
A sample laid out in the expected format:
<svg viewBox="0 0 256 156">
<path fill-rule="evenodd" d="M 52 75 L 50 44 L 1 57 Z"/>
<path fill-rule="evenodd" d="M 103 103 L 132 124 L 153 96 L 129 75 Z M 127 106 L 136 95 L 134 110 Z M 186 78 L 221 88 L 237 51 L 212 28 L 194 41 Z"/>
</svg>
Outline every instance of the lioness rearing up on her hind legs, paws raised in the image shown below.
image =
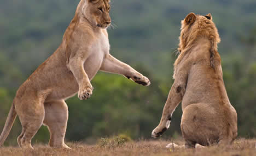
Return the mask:
<svg viewBox="0 0 256 156">
<path fill-rule="evenodd" d="M 150 84 L 147 77 L 109 54 L 109 10 L 109 0 L 80 1 L 60 47 L 17 91 L 0 146 L 18 115 L 22 124 L 20 147 L 32 148 L 31 139 L 44 123 L 51 134 L 49 146 L 69 148 L 64 143 L 68 120 L 65 99 L 77 92 L 79 99 L 89 98 L 93 89 L 90 80 L 98 70 L 122 74 L 138 84 Z"/>
</svg>

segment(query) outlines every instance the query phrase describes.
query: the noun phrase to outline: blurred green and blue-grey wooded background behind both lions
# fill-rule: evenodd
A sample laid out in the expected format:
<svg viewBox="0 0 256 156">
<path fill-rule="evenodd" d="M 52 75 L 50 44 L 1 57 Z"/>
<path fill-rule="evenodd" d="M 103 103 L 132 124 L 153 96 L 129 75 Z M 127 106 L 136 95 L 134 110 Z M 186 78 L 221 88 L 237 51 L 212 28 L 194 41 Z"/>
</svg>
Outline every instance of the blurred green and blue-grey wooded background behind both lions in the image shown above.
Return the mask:
<svg viewBox="0 0 256 156">
<path fill-rule="evenodd" d="M 0 1 L 0 130 L 16 90 L 61 43 L 79 0 Z M 68 141 L 95 142 L 125 134 L 150 138 L 161 118 L 173 83 L 173 63 L 181 20 L 190 12 L 211 13 L 222 42 L 223 77 L 230 102 L 238 114 L 238 135 L 256 136 L 256 2 L 245 1 L 115 1 L 109 30 L 111 53 L 152 81 L 139 86 L 122 76 L 98 73 L 93 96 L 67 100 Z M 163 137 L 181 134 L 182 110 L 173 114 Z M 5 145 L 17 145 L 21 132 L 17 118 Z M 48 142 L 42 127 L 33 142 Z"/>
</svg>

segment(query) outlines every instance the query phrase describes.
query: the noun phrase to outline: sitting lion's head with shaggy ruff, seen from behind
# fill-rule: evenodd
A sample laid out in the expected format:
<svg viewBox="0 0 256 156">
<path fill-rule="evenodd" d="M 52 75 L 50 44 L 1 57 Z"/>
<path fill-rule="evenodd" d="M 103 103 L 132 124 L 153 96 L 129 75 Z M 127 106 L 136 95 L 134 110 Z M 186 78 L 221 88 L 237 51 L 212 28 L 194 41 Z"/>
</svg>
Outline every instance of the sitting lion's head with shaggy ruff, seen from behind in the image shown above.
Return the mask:
<svg viewBox="0 0 256 156">
<path fill-rule="evenodd" d="M 198 38 L 214 40 L 216 44 L 220 42 L 218 30 L 212 21 L 211 14 L 202 16 L 190 13 L 181 23 L 181 36 L 179 36 L 180 52 L 182 52 L 184 48 L 190 47 Z"/>
</svg>

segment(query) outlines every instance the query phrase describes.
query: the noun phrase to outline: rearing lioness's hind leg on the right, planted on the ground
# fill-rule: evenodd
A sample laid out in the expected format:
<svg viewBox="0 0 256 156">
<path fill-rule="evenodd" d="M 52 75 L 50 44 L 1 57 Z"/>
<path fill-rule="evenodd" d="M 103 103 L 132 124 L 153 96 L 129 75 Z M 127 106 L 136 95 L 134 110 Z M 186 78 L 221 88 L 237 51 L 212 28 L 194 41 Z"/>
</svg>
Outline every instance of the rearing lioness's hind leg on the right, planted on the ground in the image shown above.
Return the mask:
<svg viewBox="0 0 256 156">
<path fill-rule="evenodd" d="M 69 148 L 64 143 L 68 121 L 68 107 L 65 101 L 54 101 L 44 103 L 44 124 L 50 131 L 50 147 Z"/>
</svg>

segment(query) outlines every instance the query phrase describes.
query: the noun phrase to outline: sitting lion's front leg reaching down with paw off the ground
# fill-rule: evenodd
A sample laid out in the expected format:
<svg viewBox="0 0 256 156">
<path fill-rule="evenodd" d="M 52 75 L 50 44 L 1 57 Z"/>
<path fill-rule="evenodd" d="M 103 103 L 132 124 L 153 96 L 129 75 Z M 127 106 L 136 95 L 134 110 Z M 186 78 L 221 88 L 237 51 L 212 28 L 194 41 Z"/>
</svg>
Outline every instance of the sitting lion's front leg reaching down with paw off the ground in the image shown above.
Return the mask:
<svg viewBox="0 0 256 156">
<path fill-rule="evenodd" d="M 153 138 L 158 138 L 170 127 L 172 114 L 178 104 L 182 101 L 184 92 L 185 85 L 178 85 L 174 82 L 165 103 L 164 110 L 162 111 L 160 123 L 152 132 Z"/>
</svg>

